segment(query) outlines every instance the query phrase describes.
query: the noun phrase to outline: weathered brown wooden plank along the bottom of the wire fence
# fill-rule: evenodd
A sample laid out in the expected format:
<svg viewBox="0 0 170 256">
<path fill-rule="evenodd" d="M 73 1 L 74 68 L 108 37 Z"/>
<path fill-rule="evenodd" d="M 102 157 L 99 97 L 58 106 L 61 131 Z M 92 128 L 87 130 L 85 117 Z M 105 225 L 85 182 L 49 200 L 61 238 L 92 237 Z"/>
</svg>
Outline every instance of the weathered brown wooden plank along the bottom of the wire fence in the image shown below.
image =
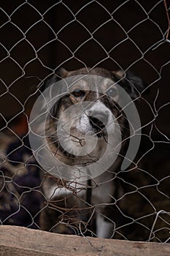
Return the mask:
<svg viewBox="0 0 170 256">
<path fill-rule="evenodd" d="M 1 225 L 0 255 L 169 256 L 170 244 L 84 238 Z"/>
</svg>

